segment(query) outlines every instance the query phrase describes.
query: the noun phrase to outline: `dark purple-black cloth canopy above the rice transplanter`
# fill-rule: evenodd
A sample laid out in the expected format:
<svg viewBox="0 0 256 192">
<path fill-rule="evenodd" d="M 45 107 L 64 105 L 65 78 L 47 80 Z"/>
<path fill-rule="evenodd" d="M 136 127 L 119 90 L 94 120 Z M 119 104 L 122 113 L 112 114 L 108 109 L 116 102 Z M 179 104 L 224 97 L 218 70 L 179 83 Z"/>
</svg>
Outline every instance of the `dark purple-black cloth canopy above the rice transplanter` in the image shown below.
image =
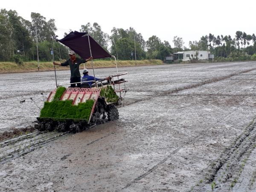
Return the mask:
<svg viewBox="0 0 256 192">
<path fill-rule="evenodd" d="M 90 35 L 86 34 L 87 32 L 75 31 L 70 32 L 70 34 L 61 40 L 58 40 L 55 37 L 55 40 L 72 49 L 83 59 L 90 58 L 90 47 L 93 59 L 111 57 L 111 55 L 105 49 L 103 49 Z M 90 39 L 90 47 L 88 36 Z"/>
</svg>

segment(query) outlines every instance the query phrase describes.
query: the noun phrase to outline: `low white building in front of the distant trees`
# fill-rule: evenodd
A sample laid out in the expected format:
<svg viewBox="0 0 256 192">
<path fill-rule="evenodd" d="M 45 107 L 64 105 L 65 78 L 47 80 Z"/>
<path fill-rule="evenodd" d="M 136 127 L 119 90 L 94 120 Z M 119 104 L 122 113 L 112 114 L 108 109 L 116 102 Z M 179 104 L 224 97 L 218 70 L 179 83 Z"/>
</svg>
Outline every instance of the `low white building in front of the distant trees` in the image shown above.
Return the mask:
<svg viewBox="0 0 256 192">
<path fill-rule="evenodd" d="M 198 52 L 198 60 L 209 60 L 210 59 L 213 59 L 214 58 L 214 55 L 211 54 L 210 51 L 180 51 L 180 52 L 176 52 L 176 53 L 173 53 L 174 55 L 177 56 L 176 59 L 182 59 L 182 61 L 190 61 L 189 57 L 192 58 L 194 57 L 195 58 L 195 53 Z M 193 55 L 193 56 L 192 56 Z"/>
</svg>

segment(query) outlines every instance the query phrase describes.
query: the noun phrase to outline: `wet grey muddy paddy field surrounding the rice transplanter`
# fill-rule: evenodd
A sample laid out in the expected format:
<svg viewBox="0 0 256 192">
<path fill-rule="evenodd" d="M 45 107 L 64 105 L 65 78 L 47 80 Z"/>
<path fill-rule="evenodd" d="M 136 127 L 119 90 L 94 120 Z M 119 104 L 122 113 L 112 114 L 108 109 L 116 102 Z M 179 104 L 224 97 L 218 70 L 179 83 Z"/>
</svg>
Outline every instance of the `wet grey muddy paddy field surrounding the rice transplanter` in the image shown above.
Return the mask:
<svg viewBox="0 0 256 192">
<path fill-rule="evenodd" d="M 131 89 L 116 125 L 0 143 L 0 191 L 256 191 L 255 62 L 125 72 Z M 58 71 L 58 84 L 69 73 Z M 33 125 L 54 88 L 54 72 L 0 75 L 0 132 Z"/>
</svg>

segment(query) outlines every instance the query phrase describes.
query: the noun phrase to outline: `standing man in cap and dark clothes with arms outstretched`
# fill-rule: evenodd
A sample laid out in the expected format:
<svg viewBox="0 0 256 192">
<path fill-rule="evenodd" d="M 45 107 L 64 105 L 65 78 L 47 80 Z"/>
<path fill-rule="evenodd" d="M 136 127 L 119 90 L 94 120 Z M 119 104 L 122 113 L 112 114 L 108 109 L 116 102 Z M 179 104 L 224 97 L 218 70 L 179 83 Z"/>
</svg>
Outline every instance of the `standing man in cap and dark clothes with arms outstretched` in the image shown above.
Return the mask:
<svg viewBox="0 0 256 192">
<path fill-rule="evenodd" d="M 81 87 L 81 83 L 77 83 L 77 82 L 81 82 L 81 75 L 79 72 L 79 65 L 82 63 L 86 63 L 87 61 L 90 61 L 93 59 L 93 57 L 87 58 L 87 59 L 80 59 L 80 58 L 76 58 L 75 56 L 75 52 L 74 51 L 69 51 L 68 54 L 70 55 L 70 59 L 67 60 L 64 63 L 56 63 L 53 62 L 54 65 L 60 65 L 60 66 L 70 66 L 70 72 L 71 72 L 71 76 L 70 76 L 70 83 L 74 83 L 74 84 L 70 84 L 70 87 Z M 75 84 L 76 83 L 76 84 Z"/>
</svg>

